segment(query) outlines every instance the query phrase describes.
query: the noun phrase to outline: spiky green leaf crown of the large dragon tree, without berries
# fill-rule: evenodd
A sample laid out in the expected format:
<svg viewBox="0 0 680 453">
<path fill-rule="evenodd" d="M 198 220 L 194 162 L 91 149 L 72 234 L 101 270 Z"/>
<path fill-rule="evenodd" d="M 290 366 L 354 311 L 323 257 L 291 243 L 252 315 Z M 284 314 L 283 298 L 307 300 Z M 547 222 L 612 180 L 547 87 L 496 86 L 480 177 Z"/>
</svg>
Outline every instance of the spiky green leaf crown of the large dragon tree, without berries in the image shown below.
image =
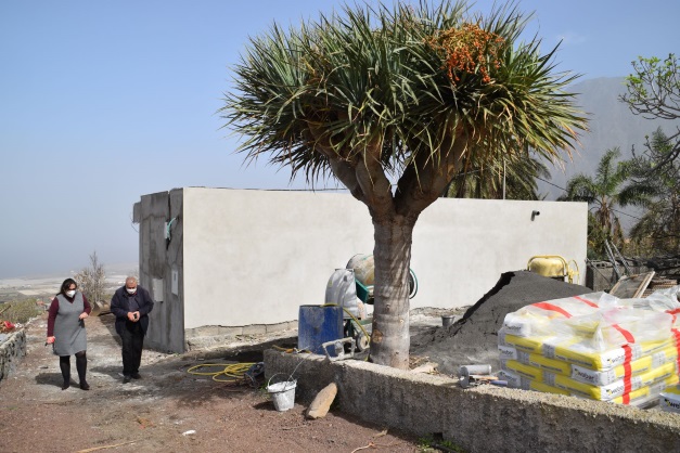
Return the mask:
<svg viewBox="0 0 680 453">
<path fill-rule="evenodd" d="M 502 46 L 498 65 L 458 70 L 453 83 L 432 42 L 465 24 Z M 529 148 L 555 157 L 586 128 L 566 91 L 576 76 L 557 73 L 554 50 L 541 54 L 540 40 L 519 41 L 525 24 L 513 4 L 484 17 L 464 2 L 423 1 L 346 5 L 297 28 L 274 25 L 252 38 L 220 114 L 245 137 L 248 158 L 266 155 L 309 180 L 328 174 L 332 160 L 375 160 L 387 173 L 419 178 L 461 141 L 466 159 Z"/>
</svg>

